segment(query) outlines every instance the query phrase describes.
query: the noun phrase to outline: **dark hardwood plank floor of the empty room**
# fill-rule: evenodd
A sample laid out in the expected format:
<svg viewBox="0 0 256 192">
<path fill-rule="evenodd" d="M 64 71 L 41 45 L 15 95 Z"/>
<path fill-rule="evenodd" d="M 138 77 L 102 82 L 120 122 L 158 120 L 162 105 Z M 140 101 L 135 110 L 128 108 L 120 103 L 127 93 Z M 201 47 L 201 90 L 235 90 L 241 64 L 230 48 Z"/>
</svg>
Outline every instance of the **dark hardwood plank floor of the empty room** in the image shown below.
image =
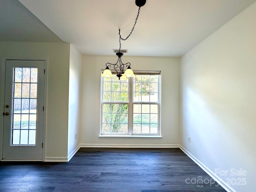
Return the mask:
<svg viewBox="0 0 256 192">
<path fill-rule="evenodd" d="M 0 192 L 226 192 L 213 181 L 178 148 L 81 148 L 68 163 L 0 162 Z"/>
</svg>

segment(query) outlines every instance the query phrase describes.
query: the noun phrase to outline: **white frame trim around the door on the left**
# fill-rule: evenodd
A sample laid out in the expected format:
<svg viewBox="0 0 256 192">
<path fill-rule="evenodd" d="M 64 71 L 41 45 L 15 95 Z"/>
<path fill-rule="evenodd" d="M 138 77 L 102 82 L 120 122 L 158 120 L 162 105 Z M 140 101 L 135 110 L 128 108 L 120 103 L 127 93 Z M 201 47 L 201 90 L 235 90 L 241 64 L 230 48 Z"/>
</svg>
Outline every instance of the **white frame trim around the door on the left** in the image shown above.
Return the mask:
<svg viewBox="0 0 256 192">
<path fill-rule="evenodd" d="M 43 120 L 43 154 L 42 160 L 34 159 L 17 159 L 17 160 L 3 160 L 3 140 L 4 140 L 4 94 L 5 94 L 5 76 L 6 76 L 6 60 L 34 60 L 34 61 L 44 61 L 45 74 L 44 74 L 44 120 Z M 46 109 L 47 109 L 47 92 L 48 92 L 48 58 L 2 58 L 2 64 L 0 65 L 0 161 L 45 161 L 46 157 Z"/>
</svg>

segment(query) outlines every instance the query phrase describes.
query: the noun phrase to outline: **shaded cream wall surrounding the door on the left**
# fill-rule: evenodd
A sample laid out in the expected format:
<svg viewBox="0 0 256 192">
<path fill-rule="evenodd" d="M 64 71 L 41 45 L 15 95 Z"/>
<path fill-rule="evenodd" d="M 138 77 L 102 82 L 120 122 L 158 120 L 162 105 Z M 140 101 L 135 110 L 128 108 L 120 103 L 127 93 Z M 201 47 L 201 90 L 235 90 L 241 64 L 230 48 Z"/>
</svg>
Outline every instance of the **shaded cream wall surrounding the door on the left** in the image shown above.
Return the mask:
<svg viewBox="0 0 256 192">
<path fill-rule="evenodd" d="M 0 42 L 0 62 L 8 59 L 48 58 L 46 104 L 46 158 L 67 157 L 68 149 L 68 84 L 70 44 Z M 1 68 L 2 70 L 3 68 Z M 3 74 L 0 71 L 0 74 Z M 1 82 L 1 85 L 4 82 Z M 4 92 L 1 89 L 1 93 Z M 2 97 L 2 94 L 0 94 Z M 0 99 L 4 106 L 3 98 Z M 2 123 L 0 124 L 2 125 Z M 2 127 L 0 127 L 2 129 Z"/>
</svg>

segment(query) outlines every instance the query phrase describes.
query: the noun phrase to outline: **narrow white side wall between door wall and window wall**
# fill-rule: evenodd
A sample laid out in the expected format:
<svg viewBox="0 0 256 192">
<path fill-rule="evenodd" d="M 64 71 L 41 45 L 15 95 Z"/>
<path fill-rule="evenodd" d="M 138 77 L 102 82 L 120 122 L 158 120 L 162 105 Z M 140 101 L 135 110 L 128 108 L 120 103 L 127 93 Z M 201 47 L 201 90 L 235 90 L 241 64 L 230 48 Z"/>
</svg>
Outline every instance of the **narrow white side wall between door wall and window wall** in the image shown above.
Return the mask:
<svg viewBox="0 0 256 192">
<path fill-rule="evenodd" d="M 68 99 L 68 156 L 79 146 L 82 55 L 70 44 L 69 99 Z M 75 134 L 77 139 L 75 139 Z M 73 153 L 72 153 L 73 152 Z"/>
</svg>

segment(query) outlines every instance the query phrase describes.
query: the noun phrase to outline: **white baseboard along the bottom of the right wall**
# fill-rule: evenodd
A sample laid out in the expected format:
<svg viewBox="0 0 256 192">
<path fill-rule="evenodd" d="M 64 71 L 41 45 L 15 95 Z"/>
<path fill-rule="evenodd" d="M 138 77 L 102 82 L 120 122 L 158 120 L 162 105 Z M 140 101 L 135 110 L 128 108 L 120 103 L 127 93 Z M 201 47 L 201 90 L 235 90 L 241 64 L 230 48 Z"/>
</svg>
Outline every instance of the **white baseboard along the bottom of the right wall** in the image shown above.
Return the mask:
<svg viewBox="0 0 256 192">
<path fill-rule="evenodd" d="M 228 185 L 224 180 L 222 180 L 218 175 L 216 175 L 212 170 L 210 170 L 206 165 L 204 165 L 200 160 L 198 160 L 195 156 L 193 156 L 188 150 L 186 150 L 183 146 L 180 145 L 180 149 L 190 158 L 192 159 L 202 170 L 204 170 L 208 175 L 210 175 L 220 186 L 222 186 L 228 192 L 236 192 L 230 185 Z"/>
</svg>

